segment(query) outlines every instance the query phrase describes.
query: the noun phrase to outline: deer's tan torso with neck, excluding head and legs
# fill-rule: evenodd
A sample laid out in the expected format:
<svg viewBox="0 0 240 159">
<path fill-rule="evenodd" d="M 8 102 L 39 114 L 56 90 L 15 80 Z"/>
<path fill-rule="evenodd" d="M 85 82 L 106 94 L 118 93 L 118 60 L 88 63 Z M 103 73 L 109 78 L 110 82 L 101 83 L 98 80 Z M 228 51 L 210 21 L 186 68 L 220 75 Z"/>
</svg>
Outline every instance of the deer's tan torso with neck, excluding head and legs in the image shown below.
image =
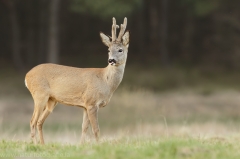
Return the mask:
<svg viewBox="0 0 240 159">
<path fill-rule="evenodd" d="M 123 67 L 76 68 L 41 64 L 27 73 L 26 85 L 33 96 L 44 90 L 46 96 L 62 104 L 103 107 L 122 81 Z"/>
</svg>

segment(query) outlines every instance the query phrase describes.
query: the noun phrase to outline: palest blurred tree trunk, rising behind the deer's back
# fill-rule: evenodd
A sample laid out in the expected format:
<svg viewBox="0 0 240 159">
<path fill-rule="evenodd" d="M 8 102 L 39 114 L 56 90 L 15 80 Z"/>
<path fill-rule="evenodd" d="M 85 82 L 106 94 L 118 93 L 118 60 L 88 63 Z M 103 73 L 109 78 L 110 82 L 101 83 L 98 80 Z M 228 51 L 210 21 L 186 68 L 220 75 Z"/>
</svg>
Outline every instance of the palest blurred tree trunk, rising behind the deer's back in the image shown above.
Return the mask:
<svg viewBox="0 0 240 159">
<path fill-rule="evenodd" d="M 59 62 L 59 29 L 58 29 L 58 11 L 60 0 L 51 0 L 50 2 L 50 20 L 49 20 L 49 50 L 48 62 Z"/>
</svg>

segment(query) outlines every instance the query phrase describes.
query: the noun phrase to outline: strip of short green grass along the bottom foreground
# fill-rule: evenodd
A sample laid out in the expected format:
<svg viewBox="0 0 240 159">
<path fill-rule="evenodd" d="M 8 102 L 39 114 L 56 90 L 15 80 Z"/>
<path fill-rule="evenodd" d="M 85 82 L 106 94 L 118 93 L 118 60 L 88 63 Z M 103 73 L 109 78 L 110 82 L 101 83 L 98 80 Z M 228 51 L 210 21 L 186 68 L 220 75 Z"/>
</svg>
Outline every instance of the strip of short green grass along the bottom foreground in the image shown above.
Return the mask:
<svg viewBox="0 0 240 159">
<path fill-rule="evenodd" d="M 239 138 L 122 138 L 105 139 L 84 145 L 49 143 L 44 146 L 23 141 L 0 142 L 0 156 L 70 157 L 98 159 L 237 159 L 240 157 Z"/>
</svg>

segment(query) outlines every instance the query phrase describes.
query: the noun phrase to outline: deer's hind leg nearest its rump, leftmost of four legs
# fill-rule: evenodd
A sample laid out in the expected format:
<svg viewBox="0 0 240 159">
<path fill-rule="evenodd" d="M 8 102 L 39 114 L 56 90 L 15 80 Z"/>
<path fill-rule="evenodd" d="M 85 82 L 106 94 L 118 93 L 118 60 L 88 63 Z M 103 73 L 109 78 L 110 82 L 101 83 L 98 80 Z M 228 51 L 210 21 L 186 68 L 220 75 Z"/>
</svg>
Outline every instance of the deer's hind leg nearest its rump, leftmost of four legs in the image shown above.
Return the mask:
<svg viewBox="0 0 240 159">
<path fill-rule="evenodd" d="M 31 138 L 32 141 L 34 141 L 35 144 L 37 144 L 37 139 L 36 139 L 36 125 L 39 116 L 42 114 L 42 111 L 47 103 L 48 96 L 42 96 L 41 98 L 34 98 L 34 111 L 33 111 L 33 116 L 30 121 L 30 129 L 31 129 Z"/>
</svg>

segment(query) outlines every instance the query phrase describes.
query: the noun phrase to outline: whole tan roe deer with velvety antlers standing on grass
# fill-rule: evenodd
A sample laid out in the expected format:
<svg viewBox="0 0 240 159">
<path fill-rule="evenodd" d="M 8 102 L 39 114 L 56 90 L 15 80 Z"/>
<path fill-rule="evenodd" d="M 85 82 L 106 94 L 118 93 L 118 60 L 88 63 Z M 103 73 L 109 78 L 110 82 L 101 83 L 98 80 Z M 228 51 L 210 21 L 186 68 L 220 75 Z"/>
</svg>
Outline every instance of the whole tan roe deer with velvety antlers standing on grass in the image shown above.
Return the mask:
<svg viewBox="0 0 240 159">
<path fill-rule="evenodd" d="M 129 46 L 129 31 L 125 32 L 127 18 L 119 26 L 113 18 L 112 37 L 100 32 L 102 42 L 108 47 L 108 66 L 105 68 L 75 68 L 57 64 L 40 64 L 25 77 L 25 85 L 34 100 L 30 121 L 31 138 L 37 143 L 37 127 L 40 143 L 44 144 L 42 125 L 56 104 L 84 108 L 81 142 L 84 142 L 89 124 L 96 141 L 99 140 L 98 109 L 106 106 L 113 92 L 122 81 Z"/>
</svg>

